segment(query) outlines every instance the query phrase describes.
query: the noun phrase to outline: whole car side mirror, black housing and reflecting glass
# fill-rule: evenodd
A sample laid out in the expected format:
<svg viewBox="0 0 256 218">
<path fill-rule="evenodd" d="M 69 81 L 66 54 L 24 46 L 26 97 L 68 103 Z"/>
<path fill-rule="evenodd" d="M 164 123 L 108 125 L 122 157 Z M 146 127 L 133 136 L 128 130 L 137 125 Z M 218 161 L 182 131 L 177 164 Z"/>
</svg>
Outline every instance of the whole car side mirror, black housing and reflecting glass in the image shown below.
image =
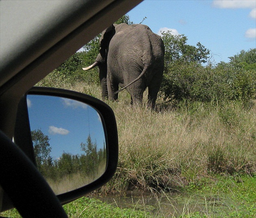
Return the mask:
<svg viewBox="0 0 256 218">
<path fill-rule="evenodd" d="M 33 87 L 20 102 L 14 141 L 62 204 L 104 185 L 117 168 L 115 115 L 86 94 Z"/>
</svg>

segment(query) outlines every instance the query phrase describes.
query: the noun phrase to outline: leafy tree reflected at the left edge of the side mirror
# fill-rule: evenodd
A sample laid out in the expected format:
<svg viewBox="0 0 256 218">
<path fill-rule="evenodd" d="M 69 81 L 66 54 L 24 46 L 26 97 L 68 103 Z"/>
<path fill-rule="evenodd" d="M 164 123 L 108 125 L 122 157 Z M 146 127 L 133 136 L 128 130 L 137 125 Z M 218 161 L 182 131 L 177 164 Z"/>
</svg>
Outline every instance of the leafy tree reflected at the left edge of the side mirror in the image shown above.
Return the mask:
<svg viewBox="0 0 256 218">
<path fill-rule="evenodd" d="M 32 142 L 34 146 L 35 158 L 37 166 L 40 167 L 50 157 L 52 147 L 49 143 L 48 135 L 44 135 L 41 129 L 31 131 Z"/>
</svg>

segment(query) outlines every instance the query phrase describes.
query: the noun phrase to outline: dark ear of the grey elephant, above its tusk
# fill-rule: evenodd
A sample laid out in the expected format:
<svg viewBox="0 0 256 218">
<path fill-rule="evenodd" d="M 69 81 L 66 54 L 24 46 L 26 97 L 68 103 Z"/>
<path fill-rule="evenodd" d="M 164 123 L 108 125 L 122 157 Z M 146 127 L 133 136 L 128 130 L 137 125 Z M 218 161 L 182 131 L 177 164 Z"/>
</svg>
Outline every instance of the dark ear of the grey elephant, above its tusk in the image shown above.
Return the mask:
<svg viewBox="0 0 256 218">
<path fill-rule="evenodd" d="M 110 27 L 106 28 L 106 30 L 102 32 L 102 35 L 100 37 L 100 55 L 103 59 L 106 58 L 108 45 L 111 41 L 111 38 L 115 35 L 114 25 L 112 24 Z"/>
</svg>

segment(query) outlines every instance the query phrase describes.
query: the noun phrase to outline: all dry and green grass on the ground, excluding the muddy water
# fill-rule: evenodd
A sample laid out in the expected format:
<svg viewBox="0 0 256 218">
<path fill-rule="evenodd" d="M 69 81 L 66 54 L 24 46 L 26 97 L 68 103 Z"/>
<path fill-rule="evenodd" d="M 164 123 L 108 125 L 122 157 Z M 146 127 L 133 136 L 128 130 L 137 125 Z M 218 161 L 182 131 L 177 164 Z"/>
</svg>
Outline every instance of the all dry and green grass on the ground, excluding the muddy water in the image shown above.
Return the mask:
<svg viewBox="0 0 256 218">
<path fill-rule="evenodd" d="M 58 88 L 101 98 L 97 85 L 54 82 Z M 255 100 L 246 105 L 238 101 L 172 105 L 158 99 L 157 110 L 151 111 L 145 105 L 130 107 L 130 96 L 123 91 L 119 102 L 106 103 L 117 119 L 119 164 L 112 180 L 95 194 L 140 189 L 161 193 L 156 195 L 161 198 L 179 191 L 189 197 L 181 203 L 182 212 L 170 217 L 256 216 Z M 225 211 L 216 200 L 220 196 L 228 205 Z M 203 209 L 193 211 L 192 205 L 201 201 Z M 145 205 L 138 206 L 121 209 L 82 198 L 65 209 L 70 217 L 165 217 L 161 210 L 156 214 Z M 18 217 L 15 211 L 8 213 Z"/>
</svg>

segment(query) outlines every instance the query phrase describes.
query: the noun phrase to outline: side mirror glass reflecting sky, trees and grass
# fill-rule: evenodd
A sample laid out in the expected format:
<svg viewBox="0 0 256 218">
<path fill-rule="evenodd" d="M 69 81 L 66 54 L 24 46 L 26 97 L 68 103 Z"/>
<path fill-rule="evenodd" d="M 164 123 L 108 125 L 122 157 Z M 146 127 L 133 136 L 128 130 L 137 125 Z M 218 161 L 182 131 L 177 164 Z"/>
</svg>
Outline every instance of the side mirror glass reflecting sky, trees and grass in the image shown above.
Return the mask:
<svg viewBox="0 0 256 218">
<path fill-rule="evenodd" d="M 37 168 L 55 194 L 85 186 L 106 168 L 104 128 L 85 103 L 28 95 L 28 116 Z"/>
</svg>

